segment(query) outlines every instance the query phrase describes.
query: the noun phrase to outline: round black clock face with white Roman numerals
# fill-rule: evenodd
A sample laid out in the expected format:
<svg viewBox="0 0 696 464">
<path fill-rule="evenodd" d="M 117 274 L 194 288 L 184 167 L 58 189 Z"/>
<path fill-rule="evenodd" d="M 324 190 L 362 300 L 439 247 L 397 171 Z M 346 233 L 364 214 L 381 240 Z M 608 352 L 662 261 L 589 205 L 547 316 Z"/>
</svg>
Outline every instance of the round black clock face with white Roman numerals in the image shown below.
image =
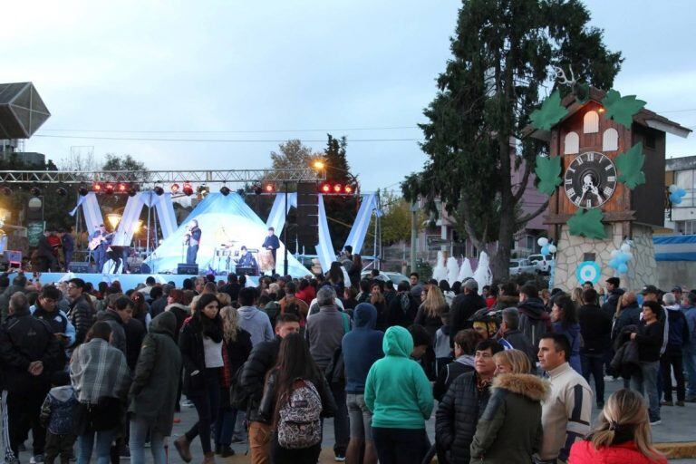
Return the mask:
<svg viewBox="0 0 696 464">
<path fill-rule="evenodd" d="M 565 195 L 578 208 L 598 208 L 614 195 L 614 162 L 596 151 L 585 151 L 565 169 Z"/>
</svg>

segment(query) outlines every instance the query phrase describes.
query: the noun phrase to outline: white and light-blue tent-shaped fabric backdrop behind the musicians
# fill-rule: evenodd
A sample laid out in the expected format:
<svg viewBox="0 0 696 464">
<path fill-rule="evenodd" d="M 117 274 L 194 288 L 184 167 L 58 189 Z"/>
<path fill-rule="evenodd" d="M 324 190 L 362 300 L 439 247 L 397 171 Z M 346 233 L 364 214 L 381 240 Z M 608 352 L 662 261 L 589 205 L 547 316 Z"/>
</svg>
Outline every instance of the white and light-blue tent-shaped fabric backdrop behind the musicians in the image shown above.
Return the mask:
<svg viewBox="0 0 696 464">
<path fill-rule="evenodd" d="M 237 193 L 230 193 L 227 197 L 221 193 L 210 193 L 198 203 L 179 228 L 162 240 L 160 247 L 148 256 L 145 262 L 153 273 L 176 272 L 177 265 L 185 262 L 184 237 L 186 227 L 192 219 L 198 220 L 198 227 L 202 232 L 197 260 L 201 272 L 207 271 L 208 266 L 224 269 L 224 258 L 220 259 L 222 264 L 218 266 L 218 258 L 215 256 L 216 248 L 221 249 L 222 244 L 260 248 L 267 233 L 264 221 L 256 216 Z M 278 273 L 283 272 L 283 253 L 284 245 L 281 241 L 275 265 Z M 309 271 L 292 255 L 288 255 L 288 272 L 293 276 L 309 275 Z"/>
</svg>

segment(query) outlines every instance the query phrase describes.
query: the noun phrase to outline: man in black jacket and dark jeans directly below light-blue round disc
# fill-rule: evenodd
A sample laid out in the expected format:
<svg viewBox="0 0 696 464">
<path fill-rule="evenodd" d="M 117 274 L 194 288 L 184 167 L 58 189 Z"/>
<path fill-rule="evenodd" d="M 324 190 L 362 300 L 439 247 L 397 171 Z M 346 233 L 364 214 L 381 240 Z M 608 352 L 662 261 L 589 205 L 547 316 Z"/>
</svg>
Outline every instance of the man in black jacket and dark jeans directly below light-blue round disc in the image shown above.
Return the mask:
<svg viewBox="0 0 696 464">
<path fill-rule="evenodd" d="M 613 277 L 614 278 L 614 277 Z M 607 282 L 611 280 L 608 279 Z M 580 308 L 580 333 L 583 346 L 580 347 L 580 362 L 583 377 L 587 383 L 590 375 L 594 377 L 594 398 L 597 408 L 604 408 L 604 361 L 612 335 L 612 316 L 596 304 L 597 292 L 590 288 L 583 292 L 585 305 Z"/>
</svg>

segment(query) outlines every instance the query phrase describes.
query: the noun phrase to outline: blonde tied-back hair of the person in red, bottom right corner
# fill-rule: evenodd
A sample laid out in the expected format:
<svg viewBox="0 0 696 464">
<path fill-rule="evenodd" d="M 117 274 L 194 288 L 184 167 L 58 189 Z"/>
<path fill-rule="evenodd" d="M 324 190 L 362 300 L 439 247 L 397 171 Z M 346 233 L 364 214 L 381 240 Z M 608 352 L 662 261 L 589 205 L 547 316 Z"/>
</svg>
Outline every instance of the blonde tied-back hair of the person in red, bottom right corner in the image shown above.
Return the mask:
<svg viewBox="0 0 696 464">
<path fill-rule="evenodd" d="M 633 442 L 643 456 L 651 460 L 663 458 L 662 453 L 652 447 L 648 408 L 643 396 L 635 391 L 614 391 L 598 420 L 590 439 L 594 449 L 612 446 L 617 429 L 633 430 Z"/>
</svg>

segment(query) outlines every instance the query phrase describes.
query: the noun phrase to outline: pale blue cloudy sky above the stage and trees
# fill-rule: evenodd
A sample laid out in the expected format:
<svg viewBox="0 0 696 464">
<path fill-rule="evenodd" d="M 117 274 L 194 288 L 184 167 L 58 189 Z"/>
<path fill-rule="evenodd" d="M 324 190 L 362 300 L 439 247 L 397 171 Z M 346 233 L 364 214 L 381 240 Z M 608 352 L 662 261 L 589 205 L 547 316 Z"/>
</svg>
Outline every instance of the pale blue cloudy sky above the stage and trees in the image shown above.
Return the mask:
<svg viewBox="0 0 696 464">
<path fill-rule="evenodd" d="M 696 129 L 691 0 L 585 3 L 609 49 L 623 52 L 614 88 Z M 267 168 L 283 140 L 322 150 L 330 132 L 348 138 L 362 191 L 398 189 L 426 160 L 417 123 L 459 6 L 5 2 L 0 82 L 34 82 L 52 116 L 24 149 L 59 163 L 93 152 L 131 154 L 149 169 Z M 696 135 L 668 136 L 667 153 L 696 155 Z"/>
</svg>

